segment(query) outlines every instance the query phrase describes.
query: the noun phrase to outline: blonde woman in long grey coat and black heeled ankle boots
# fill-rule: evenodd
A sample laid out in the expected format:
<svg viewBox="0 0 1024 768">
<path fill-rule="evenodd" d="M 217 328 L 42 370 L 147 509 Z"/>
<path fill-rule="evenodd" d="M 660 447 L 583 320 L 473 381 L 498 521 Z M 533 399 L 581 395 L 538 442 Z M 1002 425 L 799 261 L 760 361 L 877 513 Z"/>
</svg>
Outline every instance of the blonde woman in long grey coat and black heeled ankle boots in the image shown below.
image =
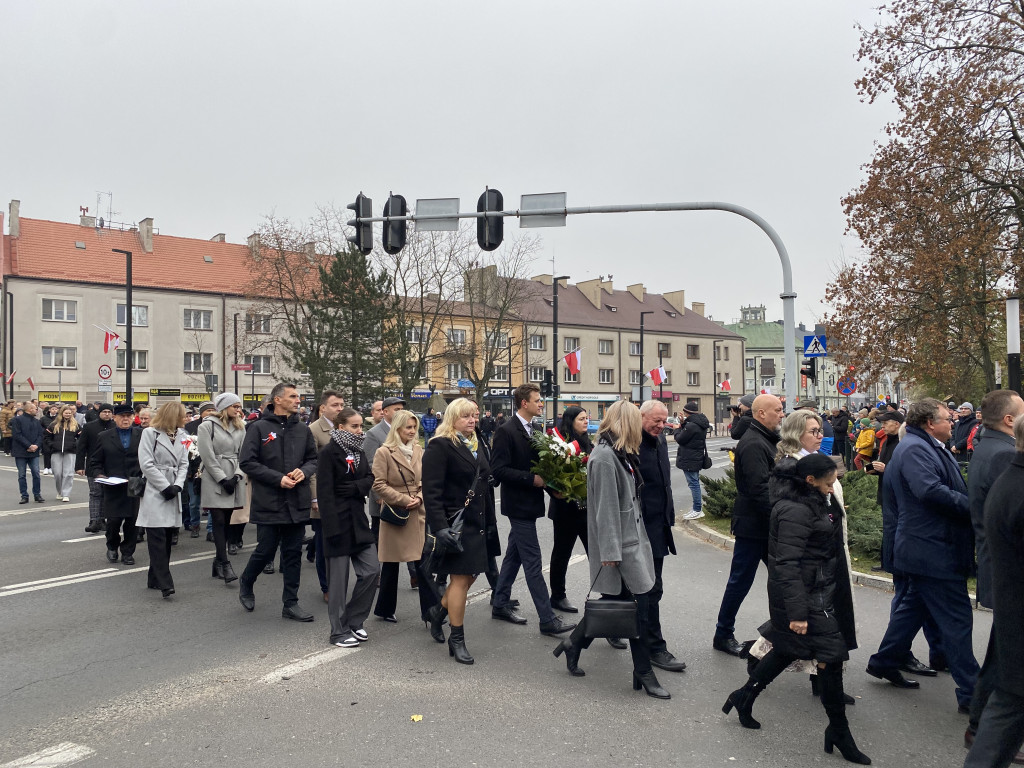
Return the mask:
<svg viewBox="0 0 1024 768">
<path fill-rule="evenodd" d="M 639 451 L 643 427 L 640 410 L 618 400 L 605 413 L 597 432 L 597 446 L 587 463 L 587 539 L 592 590 L 603 598 L 636 598 L 639 638 L 630 639 L 633 655 L 633 689 L 647 695 L 671 698 L 650 664 L 647 645 L 647 593 L 654 587 L 654 557 L 640 510 Z M 555 648 L 565 653 L 569 673 L 584 675 L 580 653 L 589 647 L 587 621 L 580 623 L 568 640 Z"/>
</svg>

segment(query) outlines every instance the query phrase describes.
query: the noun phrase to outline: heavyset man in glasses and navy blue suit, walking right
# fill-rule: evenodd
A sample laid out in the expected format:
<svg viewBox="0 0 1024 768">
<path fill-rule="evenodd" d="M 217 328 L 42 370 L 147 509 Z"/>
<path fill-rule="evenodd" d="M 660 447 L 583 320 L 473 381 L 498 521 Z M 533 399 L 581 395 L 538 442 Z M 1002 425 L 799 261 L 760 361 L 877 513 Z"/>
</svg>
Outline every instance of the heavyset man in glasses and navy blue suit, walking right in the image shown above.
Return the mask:
<svg viewBox="0 0 1024 768">
<path fill-rule="evenodd" d="M 904 594 L 893 599 L 889 627 L 867 663 L 867 674 L 898 688 L 920 687 L 899 670 L 918 631 L 931 618 L 956 683 L 956 703 L 966 714 L 978 677 L 967 592 L 974 536 L 967 485 L 945 447 L 951 431 L 943 403 L 931 397 L 912 403 L 906 436 L 882 475 L 883 510 L 895 518 L 892 568 L 902 575 Z"/>
</svg>

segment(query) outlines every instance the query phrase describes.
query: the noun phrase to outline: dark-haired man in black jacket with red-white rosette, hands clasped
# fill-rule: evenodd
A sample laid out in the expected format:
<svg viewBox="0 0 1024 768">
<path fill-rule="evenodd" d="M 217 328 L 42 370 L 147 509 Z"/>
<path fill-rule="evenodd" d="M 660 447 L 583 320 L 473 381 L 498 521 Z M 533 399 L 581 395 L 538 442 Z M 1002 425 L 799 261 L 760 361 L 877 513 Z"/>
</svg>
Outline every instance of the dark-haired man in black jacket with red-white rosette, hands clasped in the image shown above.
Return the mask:
<svg viewBox="0 0 1024 768">
<path fill-rule="evenodd" d="M 273 410 L 249 427 L 239 453 L 239 467 L 252 483 L 249 519 L 256 523 L 256 549 L 239 578 L 239 601 L 246 610 L 256 607 L 253 585 L 273 562 L 280 546 L 285 582 L 281 615 L 311 622 L 313 614 L 299 605 L 299 578 L 302 540 L 312 508 L 309 478 L 316 472 L 316 443 L 309 427 L 299 421 L 295 385 L 274 385 L 270 400 Z"/>
</svg>

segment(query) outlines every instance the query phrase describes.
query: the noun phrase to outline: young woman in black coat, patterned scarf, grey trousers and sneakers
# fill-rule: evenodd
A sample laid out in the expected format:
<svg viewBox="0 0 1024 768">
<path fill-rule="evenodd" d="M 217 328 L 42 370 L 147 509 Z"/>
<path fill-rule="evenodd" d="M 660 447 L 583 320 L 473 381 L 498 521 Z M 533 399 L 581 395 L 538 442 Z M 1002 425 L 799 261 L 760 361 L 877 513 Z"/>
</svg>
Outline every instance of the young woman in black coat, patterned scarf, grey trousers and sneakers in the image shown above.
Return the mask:
<svg viewBox="0 0 1024 768">
<path fill-rule="evenodd" d="M 354 409 L 342 409 L 317 459 L 316 503 L 324 531 L 331 643 L 347 648 L 369 638 L 362 624 L 370 615 L 380 564 L 365 510 L 374 476 L 362 453 L 362 416 Z M 349 565 L 355 571 L 355 587 L 346 603 Z"/>
</svg>

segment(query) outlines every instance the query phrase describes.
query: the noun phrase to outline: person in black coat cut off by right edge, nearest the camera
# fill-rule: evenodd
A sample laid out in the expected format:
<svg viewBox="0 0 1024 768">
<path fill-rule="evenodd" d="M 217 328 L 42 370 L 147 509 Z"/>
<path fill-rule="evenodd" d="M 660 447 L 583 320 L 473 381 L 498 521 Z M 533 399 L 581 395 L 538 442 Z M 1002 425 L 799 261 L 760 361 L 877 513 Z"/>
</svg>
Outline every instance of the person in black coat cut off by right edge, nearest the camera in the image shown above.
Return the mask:
<svg viewBox="0 0 1024 768">
<path fill-rule="evenodd" d="M 982 418 L 988 421 L 982 408 Z M 992 574 L 992 630 L 1001 664 L 965 768 L 1007 766 L 1024 742 L 1024 418 L 1014 422 L 1016 455 L 985 500 L 984 528 Z M 987 436 L 986 440 L 989 439 Z M 982 440 L 984 442 L 984 440 Z"/>
</svg>

